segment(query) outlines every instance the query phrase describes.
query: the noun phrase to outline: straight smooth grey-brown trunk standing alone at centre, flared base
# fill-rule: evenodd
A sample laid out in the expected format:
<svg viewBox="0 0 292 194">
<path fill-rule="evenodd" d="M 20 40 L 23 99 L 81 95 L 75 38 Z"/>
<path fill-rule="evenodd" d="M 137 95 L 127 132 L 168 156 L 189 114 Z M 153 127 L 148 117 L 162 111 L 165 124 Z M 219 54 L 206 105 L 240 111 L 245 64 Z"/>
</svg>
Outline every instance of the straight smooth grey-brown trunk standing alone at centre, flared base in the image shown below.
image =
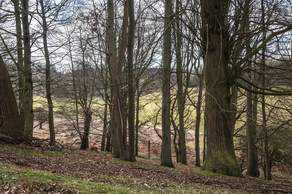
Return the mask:
<svg viewBox="0 0 292 194">
<path fill-rule="evenodd" d="M 171 65 L 171 0 L 164 4 L 163 69 L 162 69 L 162 146 L 161 165 L 174 167 L 170 137 L 170 65 Z"/>
</svg>

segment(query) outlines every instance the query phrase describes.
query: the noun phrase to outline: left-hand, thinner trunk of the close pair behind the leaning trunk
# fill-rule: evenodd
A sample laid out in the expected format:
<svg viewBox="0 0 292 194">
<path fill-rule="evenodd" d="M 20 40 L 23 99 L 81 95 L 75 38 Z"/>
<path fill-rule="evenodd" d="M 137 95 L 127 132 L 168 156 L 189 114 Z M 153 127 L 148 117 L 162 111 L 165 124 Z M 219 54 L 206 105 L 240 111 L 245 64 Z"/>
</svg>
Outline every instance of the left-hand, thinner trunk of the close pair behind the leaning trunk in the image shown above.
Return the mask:
<svg viewBox="0 0 292 194">
<path fill-rule="evenodd" d="M 13 0 L 16 34 L 17 34 L 17 71 L 18 71 L 18 101 L 19 101 L 19 113 L 21 119 L 21 126 L 25 125 L 25 95 L 24 95 L 24 76 L 23 76 L 23 47 L 22 47 L 22 30 L 21 30 L 21 16 L 19 11 L 19 0 Z"/>
</svg>

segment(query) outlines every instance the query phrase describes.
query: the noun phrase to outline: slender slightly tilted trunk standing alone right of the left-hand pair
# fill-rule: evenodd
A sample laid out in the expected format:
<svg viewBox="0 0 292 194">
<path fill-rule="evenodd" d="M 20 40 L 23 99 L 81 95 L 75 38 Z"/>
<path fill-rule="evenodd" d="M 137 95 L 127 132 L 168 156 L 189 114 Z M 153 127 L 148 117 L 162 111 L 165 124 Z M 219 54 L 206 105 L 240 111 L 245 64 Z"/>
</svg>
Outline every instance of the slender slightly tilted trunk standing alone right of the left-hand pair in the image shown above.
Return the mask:
<svg viewBox="0 0 292 194">
<path fill-rule="evenodd" d="M 40 0 L 41 7 L 41 17 L 42 17 L 42 28 L 43 28 L 43 44 L 44 44 L 44 53 L 46 59 L 46 93 L 47 93 L 47 101 L 49 108 L 49 129 L 50 129 L 50 143 L 51 146 L 55 145 L 55 127 L 54 127 L 54 106 L 51 94 L 51 65 L 50 65 L 50 54 L 48 50 L 48 42 L 47 42 L 47 32 L 48 25 L 46 21 L 46 13 L 44 9 L 43 0 Z"/>
</svg>

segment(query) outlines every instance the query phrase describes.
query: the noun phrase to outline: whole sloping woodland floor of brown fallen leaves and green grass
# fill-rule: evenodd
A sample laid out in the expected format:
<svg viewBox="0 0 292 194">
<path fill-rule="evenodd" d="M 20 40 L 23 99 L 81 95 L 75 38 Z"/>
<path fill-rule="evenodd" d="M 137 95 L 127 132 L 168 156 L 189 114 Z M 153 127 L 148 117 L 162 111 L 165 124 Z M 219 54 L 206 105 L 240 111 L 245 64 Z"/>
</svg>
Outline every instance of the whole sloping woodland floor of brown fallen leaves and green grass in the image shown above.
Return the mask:
<svg viewBox="0 0 292 194">
<path fill-rule="evenodd" d="M 159 165 L 157 159 L 125 162 L 109 152 L 62 151 L 0 144 L 0 194 L 292 193 L 292 179 L 236 178 L 193 165 Z"/>
</svg>

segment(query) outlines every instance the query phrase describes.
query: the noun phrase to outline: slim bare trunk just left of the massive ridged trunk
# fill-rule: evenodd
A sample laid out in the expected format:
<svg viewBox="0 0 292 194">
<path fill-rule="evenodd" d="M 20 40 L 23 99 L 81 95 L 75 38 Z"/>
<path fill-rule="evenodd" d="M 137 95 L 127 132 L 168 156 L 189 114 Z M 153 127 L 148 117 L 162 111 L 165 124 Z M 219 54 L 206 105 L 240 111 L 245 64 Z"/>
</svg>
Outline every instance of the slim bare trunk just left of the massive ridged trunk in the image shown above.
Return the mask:
<svg viewBox="0 0 292 194">
<path fill-rule="evenodd" d="M 201 166 L 200 159 L 200 123 L 201 123 L 201 101 L 203 94 L 203 76 L 199 77 L 199 93 L 198 103 L 196 107 L 196 126 L 195 126 L 195 151 L 196 151 L 196 166 Z"/>
</svg>

